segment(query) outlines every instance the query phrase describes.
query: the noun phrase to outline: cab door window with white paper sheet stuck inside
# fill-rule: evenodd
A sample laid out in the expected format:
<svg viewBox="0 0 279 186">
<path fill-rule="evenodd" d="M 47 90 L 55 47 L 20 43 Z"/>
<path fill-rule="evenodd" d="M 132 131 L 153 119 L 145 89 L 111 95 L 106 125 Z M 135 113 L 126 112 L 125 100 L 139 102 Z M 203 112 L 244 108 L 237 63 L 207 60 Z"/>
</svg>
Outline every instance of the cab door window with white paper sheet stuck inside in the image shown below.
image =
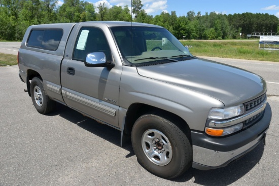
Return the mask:
<svg viewBox="0 0 279 186">
<path fill-rule="evenodd" d="M 92 52 L 103 52 L 107 60 L 112 60 L 111 49 L 102 30 L 82 27 L 76 41 L 73 59 L 84 61 L 87 54 Z"/>
</svg>

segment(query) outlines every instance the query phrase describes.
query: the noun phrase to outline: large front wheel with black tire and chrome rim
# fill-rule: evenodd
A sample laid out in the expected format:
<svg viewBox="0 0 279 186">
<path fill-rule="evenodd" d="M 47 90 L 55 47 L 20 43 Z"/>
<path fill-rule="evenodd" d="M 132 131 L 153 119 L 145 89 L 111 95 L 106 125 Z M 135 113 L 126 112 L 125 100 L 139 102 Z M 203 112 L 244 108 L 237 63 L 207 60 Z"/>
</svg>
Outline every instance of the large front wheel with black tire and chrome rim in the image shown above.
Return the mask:
<svg viewBox="0 0 279 186">
<path fill-rule="evenodd" d="M 131 133 L 138 162 L 167 179 L 178 177 L 192 165 L 192 146 L 175 123 L 160 114 L 147 114 L 136 120 Z"/>
</svg>

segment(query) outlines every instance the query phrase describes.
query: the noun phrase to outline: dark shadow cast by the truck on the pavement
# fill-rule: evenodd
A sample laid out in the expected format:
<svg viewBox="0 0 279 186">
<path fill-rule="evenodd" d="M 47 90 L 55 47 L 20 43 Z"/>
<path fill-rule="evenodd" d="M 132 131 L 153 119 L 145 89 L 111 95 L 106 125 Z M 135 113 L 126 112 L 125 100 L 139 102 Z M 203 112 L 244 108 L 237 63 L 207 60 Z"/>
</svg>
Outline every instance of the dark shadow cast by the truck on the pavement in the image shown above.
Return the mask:
<svg viewBox="0 0 279 186">
<path fill-rule="evenodd" d="M 118 147 L 121 147 L 121 131 L 107 125 L 99 124 L 96 121 L 85 117 L 77 111 L 62 104 L 57 104 L 56 110 L 48 116 L 57 115 L 91 132 L 92 134 L 97 135 L 98 137 L 101 137 Z M 130 152 L 128 155 L 126 155 L 126 158 L 134 156 L 131 144 L 124 147 L 124 149 Z M 207 171 L 190 168 L 183 175 L 178 178 L 171 179 L 171 181 L 187 182 L 194 178 L 194 183 L 201 185 L 229 185 L 237 181 L 242 176 L 246 175 L 257 164 L 260 165 L 263 152 L 264 144 L 260 143 L 250 153 L 226 167 Z"/>
</svg>

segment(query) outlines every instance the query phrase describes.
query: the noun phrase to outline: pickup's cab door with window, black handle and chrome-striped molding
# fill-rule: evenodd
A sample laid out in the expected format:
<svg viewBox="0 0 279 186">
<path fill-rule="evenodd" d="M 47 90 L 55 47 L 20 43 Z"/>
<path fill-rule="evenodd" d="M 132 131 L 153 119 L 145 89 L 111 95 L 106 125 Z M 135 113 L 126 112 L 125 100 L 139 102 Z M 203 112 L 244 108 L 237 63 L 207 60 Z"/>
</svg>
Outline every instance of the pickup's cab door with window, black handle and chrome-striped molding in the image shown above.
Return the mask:
<svg viewBox="0 0 279 186">
<path fill-rule="evenodd" d="M 81 27 L 71 58 L 61 66 L 62 95 L 65 103 L 95 119 L 118 126 L 119 85 L 122 66 L 86 67 L 88 53 L 103 52 L 113 60 L 106 36 L 97 27 Z"/>
</svg>

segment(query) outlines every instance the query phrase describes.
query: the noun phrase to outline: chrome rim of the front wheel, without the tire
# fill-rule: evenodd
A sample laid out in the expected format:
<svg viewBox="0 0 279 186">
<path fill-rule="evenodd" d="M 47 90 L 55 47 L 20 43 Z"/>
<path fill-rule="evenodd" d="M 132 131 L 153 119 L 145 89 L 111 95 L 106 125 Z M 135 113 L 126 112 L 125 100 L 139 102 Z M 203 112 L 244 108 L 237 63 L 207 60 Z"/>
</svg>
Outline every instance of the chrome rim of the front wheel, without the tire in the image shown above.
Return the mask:
<svg viewBox="0 0 279 186">
<path fill-rule="evenodd" d="M 159 130 L 147 130 L 142 136 L 142 147 L 147 158 L 156 165 L 164 166 L 171 161 L 171 144 Z"/>
</svg>

